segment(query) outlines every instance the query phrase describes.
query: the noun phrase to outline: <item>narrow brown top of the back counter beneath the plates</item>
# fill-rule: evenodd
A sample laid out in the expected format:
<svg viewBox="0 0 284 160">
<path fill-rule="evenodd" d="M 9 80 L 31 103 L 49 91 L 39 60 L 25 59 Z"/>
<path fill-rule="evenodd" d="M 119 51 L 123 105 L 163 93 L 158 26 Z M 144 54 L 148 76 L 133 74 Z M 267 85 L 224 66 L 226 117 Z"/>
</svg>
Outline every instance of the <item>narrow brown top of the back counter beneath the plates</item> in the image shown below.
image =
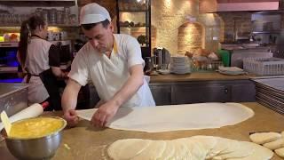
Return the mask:
<svg viewBox="0 0 284 160">
<path fill-rule="evenodd" d="M 223 75 L 217 72 L 193 72 L 186 75 L 158 75 L 151 76 L 150 83 L 171 83 L 171 82 L 186 82 L 186 81 L 209 81 L 209 80 L 248 80 L 254 75 Z"/>
</svg>

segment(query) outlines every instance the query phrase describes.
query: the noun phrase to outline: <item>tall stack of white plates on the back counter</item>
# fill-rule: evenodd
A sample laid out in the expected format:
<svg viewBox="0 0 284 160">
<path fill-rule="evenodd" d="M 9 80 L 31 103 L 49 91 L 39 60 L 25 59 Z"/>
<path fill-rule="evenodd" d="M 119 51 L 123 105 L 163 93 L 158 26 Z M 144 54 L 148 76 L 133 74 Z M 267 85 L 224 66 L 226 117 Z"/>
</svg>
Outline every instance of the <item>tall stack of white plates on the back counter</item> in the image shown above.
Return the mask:
<svg viewBox="0 0 284 160">
<path fill-rule="evenodd" d="M 174 74 L 188 74 L 191 72 L 187 56 L 170 57 L 170 72 Z"/>
</svg>

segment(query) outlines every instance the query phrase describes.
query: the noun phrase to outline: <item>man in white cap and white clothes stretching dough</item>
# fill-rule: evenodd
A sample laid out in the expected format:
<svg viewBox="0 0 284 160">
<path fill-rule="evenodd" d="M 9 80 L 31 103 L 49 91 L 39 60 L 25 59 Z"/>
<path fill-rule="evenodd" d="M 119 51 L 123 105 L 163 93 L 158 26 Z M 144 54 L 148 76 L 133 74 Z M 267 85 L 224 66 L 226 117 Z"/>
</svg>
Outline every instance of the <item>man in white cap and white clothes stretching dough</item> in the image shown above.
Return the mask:
<svg viewBox="0 0 284 160">
<path fill-rule="evenodd" d="M 95 126 L 105 126 L 121 107 L 153 107 L 152 93 L 144 77 L 144 60 L 138 41 L 128 35 L 113 34 L 114 26 L 106 8 L 86 4 L 80 25 L 89 42 L 72 62 L 62 108 L 67 123 L 78 123 L 75 112 L 80 88 L 90 79 L 99 94 L 99 108 L 91 118 Z"/>
</svg>

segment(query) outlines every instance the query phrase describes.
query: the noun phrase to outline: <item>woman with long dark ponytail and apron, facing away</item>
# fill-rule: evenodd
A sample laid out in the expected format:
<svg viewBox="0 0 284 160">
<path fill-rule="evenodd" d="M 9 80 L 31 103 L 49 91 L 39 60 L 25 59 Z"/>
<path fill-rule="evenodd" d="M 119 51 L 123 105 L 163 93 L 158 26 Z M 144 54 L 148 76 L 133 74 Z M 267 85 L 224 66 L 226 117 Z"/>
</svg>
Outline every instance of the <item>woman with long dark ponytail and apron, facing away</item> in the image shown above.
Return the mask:
<svg viewBox="0 0 284 160">
<path fill-rule="evenodd" d="M 67 77 L 59 68 L 59 50 L 46 41 L 47 24 L 41 17 L 33 16 L 20 27 L 20 43 L 17 58 L 29 84 L 29 104 L 49 101 L 48 110 L 61 109 L 59 86 L 56 77 Z M 47 83 L 49 81 L 49 83 Z M 50 96 L 51 95 L 51 96 Z"/>
</svg>

